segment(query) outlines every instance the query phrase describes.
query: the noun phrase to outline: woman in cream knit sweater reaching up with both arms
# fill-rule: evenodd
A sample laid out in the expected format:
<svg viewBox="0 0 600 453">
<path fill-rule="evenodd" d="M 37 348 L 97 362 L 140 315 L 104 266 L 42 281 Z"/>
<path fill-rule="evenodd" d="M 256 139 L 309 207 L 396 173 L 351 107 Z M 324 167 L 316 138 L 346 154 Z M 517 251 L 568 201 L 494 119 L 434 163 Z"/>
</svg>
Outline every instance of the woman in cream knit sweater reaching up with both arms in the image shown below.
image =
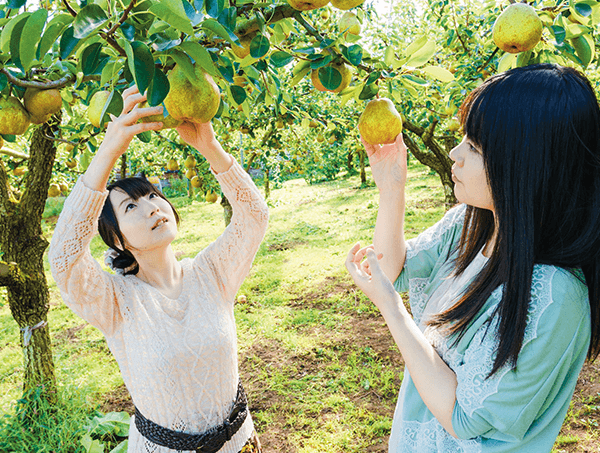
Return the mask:
<svg viewBox="0 0 600 453">
<path fill-rule="evenodd" d="M 146 97 L 135 87 L 123 95 L 122 114 L 65 201 L 50 244 L 52 275 L 119 364 L 136 408 L 128 452 L 260 452 L 238 375 L 233 305 L 264 237 L 267 205 L 211 124 L 184 122 L 179 134 L 210 163 L 233 217 L 212 244 L 178 261 L 171 243 L 179 217 L 162 193 L 140 178 L 106 187 L 134 135 L 162 125 L 138 122 L 162 107 L 140 108 Z M 114 274 L 90 254 L 97 228 Z"/>
</svg>

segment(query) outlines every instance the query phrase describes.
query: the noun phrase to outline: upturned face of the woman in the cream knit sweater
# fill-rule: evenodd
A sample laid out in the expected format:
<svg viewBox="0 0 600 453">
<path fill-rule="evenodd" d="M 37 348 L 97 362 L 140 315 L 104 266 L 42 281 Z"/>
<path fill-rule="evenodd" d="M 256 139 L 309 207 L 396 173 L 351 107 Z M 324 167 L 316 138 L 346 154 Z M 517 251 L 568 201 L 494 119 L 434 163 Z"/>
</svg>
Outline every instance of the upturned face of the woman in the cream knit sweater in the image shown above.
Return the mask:
<svg viewBox="0 0 600 453">
<path fill-rule="evenodd" d="M 133 200 L 126 192 L 113 189 L 109 199 L 128 250 L 149 251 L 166 247 L 175 239 L 175 213 L 169 202 L 156 193 Z"/>
</svg>

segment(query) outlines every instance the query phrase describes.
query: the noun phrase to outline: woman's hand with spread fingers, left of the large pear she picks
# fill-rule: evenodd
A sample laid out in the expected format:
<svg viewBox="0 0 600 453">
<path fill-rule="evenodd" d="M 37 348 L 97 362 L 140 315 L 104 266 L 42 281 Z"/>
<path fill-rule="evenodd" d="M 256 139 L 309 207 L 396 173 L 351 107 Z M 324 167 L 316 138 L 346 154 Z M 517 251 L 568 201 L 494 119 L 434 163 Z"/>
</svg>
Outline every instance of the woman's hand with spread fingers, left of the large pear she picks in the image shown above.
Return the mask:
<svg viewBox="0 0 600 453">
<path fill-rule="evenodd" d="M 139 103 L 145 100 L 146 95 L 140 94 L 135 85 L 123 92 L 123 111 L 119 117 L 110 115 L 111 121 L 106 128 L 104 141 L 98 149 L 99 153 L 116 160 L 127 151 L 136 134 L 161 128 L 160 122 L 138 123 L 140 118 L 163 112 L 162 106 L 139 108 Z"/>
</svg>

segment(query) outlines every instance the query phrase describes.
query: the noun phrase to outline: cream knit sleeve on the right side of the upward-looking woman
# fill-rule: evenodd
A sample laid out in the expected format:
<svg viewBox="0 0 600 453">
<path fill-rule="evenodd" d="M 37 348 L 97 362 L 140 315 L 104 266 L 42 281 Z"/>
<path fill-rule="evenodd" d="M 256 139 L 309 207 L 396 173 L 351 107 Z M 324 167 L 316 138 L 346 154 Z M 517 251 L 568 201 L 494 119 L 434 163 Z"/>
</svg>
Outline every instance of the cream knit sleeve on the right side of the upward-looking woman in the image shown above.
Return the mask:
<svg viewBox="0 0 600 453">
<path fill-rule="evenodd" d="M 269 213 L 250 175 L 235 160 L 229 170 L 215 176 L 233 216 L 223 234 L 196 256 L 194 264 L 209 269 L 225 300 L 233 301 L 265 236 Z"/>
</svg>

